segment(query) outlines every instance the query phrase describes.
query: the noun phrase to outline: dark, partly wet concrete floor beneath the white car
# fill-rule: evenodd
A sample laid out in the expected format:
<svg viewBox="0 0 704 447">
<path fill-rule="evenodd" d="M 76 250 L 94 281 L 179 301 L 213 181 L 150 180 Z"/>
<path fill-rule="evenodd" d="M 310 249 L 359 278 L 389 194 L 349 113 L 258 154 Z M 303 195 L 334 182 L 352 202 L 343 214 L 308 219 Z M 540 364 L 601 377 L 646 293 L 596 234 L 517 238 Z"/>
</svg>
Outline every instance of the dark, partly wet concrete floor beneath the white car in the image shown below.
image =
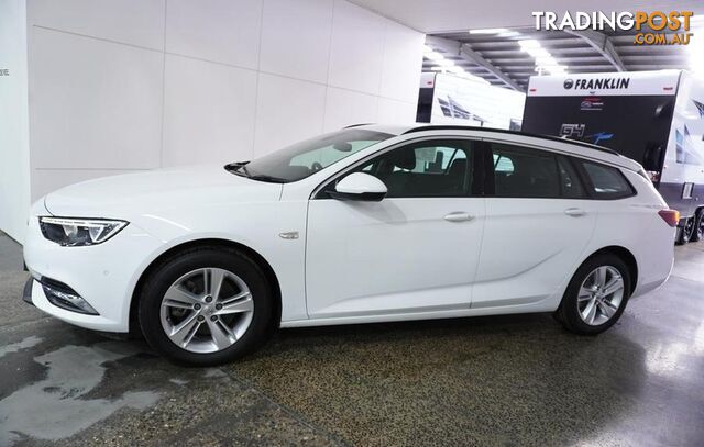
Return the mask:
<svg viewBox="0 0 704 447">
<path fill-rule="evenodd" d="M 0 445 L 704 444 L 704 244 L 598 337 L 550 315 L 282 331 L 175 367 L 20 299 L 0 236 Z"/>
</svg>

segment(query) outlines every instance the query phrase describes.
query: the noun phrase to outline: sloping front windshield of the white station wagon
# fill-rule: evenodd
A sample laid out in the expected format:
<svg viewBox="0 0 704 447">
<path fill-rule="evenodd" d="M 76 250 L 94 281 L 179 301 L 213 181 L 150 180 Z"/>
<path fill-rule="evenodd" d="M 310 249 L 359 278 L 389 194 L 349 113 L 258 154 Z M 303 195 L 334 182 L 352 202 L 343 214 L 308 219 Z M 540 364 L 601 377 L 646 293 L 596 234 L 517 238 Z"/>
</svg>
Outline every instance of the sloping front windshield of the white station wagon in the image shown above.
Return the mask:
<svg viewBox="0 0 704 447">
<path fill-rule="evenodd" d="M 305 179 L 392 136 L 394 135 L 363 128 L 344 128 L 306 139 L 252 161 L 228 165 L 226 169 L 255 180 L 288 183 Z"/>
</svg>

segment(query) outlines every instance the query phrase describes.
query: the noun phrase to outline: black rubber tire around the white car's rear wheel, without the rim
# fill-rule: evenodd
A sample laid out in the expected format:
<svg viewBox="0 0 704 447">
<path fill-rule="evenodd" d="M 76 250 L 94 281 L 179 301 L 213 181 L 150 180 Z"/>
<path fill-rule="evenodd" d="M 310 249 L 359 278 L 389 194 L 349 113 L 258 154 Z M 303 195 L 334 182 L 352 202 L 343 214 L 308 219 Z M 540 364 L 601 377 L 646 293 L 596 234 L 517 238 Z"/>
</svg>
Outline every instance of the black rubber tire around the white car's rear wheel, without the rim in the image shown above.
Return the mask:
<svg viewBox="0 0 704 447">
<path fill-rule="evenodd" d="M 596 268 L 608 266 L 613 267 L 620 273 L 624 281 L 624 294 L 620 301 L 620 305 L 614 313 L 614 315 L 605 323 L 600 325 L 590 325 L 585 323 L 580 316 L 578 294 L 582 283 L 586 280 L 587 276 L 592 273 Z M 626 309 L 628 298 L 630 297 L 630 275 L 628 267 L 624 260 L 614 254 L 601 254 L 593 256 L 585 260 L 576 270 L 572 280 L 570 281 L 560 306 L 554 312 L 554 317 L 558 320 L 568 331 L 580 335 L 596 335 L 608 329 L 613 326 Z"/>
</svg>

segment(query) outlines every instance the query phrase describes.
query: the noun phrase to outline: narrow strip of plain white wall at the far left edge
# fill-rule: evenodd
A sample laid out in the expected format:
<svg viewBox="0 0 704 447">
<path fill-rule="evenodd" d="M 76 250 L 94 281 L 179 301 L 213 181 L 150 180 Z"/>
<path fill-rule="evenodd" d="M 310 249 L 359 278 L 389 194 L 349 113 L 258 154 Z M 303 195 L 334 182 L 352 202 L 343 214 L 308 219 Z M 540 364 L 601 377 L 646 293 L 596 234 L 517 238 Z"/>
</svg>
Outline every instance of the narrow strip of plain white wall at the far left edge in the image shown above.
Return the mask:
<svg viewBox="0 0 704 447">
<path fill-rule="evenodd" d="M 22 242 L 30 204 L 24 0 L 0 0 L 0 230 Z"/>
</svg>

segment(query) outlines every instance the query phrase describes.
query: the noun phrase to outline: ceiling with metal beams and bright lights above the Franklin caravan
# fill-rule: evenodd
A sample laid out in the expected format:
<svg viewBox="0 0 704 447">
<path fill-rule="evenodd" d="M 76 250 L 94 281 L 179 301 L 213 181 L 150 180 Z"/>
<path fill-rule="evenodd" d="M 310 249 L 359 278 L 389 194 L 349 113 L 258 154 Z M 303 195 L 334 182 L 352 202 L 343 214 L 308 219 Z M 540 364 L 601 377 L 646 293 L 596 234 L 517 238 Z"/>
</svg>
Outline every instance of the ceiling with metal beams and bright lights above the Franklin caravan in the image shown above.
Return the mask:
<svg viewBox="0 0 704 447">
<path fill-rule="evenodd" d="M 704 1 L 676 2 L 592 0 L 351 0 L 399 23 L 427 34 L 426 44 L 465 72 L 492 85 L 525 91 L 537 75 L 536 59 L 521 49 L 519 41 L 537 40 L 566 72 L 641 71 L 691 68 L 694 45 L 635 45 L 636 31 L 564 32 L 536 31 L 534 11 L 693 11 L 697 52 L 704 62 Z M 506 29 L 501 34 L 470 34 L 469 30 Z M 696 41 L 695 41 L 696 40 Z M 701 64 L 701 63 L 697 63 Z M 424 71 L 438 63 L 424 59 Z"/>
</svg>

